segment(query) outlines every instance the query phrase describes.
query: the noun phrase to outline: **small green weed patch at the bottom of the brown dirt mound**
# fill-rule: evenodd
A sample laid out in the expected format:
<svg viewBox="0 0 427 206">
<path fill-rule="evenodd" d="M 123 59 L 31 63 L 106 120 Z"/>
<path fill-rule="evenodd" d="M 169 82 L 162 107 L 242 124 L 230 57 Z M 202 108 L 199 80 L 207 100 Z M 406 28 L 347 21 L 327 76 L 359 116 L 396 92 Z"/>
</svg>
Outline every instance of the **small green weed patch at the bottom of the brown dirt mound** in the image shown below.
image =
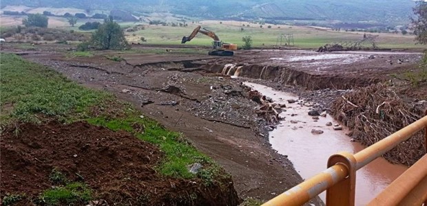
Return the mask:
<svg viewBox="0 0 427 206">
<path fill-rule="evenodd" d="M 39 201 L 46 205 L 70 205 L 87 203 L 92 199 L 92 191 L 84 183 L 68 183 L 63 187 L 46 190 L 39 196 Z"/>
</svg>

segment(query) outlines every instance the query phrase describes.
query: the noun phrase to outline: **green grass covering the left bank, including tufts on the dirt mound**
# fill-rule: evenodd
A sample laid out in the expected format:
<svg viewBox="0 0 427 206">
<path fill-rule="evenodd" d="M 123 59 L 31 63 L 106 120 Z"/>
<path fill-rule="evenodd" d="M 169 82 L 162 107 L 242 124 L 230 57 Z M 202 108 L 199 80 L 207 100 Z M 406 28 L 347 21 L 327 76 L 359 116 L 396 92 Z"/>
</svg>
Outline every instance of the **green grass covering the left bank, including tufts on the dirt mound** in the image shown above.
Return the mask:
<svg viewBox="0 0 427 206">
<path fill-rule="evenodd" d="M 67 80 L 56 71 L 12 54 L 1 54 L 0 66 L 2 128 L 16 122 L 43 124 L 52 119 L 64 123 L 83 120 L 111 130 L 127 131 L 138 139 L 158 146 L 165 157 L 156 166 L 156 170 L 165 176 L 183 179 L 198 177 L 205 185 L 214 183 L 218 176 L 228 176 L 209 157 L 190 146 L 181 133 L 166 130 L 147 117 L 141 118 L 143 114 L 140 111 L 128 103 L 119 102 L 109 93 L 86 89 Z M 93 115 L 91 113 L 93 110 L 104 113 Z M 132 126 L 134 124 L 142 125 L 145 130 L 141 132 L 134 129 Z M 187 165 L 195 162 L 204 165 L 198 174 L 193 174 L 187 169 Z M 73 203 L 76 198 L 89 200 L 90 191 L 79 188 L 84 189 L 86 186 L 80 183 L 67 183 L 63 187 L 46 190 L 39 198 L 49 200 L 50 203 L 63 203 L 64 198 L 69 199 L 65 200 L 67 203 Z M 76 195 L 76 191 L 80 191 L 81 194 Z M 10 194 L 6 200 L 13 201 L 17 198 L 20 198 L 18 194 Z"/>
</svg>

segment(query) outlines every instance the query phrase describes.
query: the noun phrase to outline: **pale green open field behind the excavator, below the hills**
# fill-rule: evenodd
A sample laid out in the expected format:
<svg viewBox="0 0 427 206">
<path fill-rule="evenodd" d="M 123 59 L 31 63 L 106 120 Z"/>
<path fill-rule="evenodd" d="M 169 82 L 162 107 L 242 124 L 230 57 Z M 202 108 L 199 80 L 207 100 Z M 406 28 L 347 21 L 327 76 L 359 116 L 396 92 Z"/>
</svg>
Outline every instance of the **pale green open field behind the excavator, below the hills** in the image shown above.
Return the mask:
<svg viewBox="0 0 427 206">
<path fill-rule="evenodd" d="M 1 16 L 1 26 L 11 26 L 21 23 L 19 17 Z M 49 27 L 55 27 L 62 30 L 80 31 L 78 27 L 87 21 L 100 21 L 99 19 L 79 19 L 74 27 L 67 23 L 67 19 L 50 16 Z M 200 21 L 197 23 L 187 22 L 188 27 L 171 27 L 162 25 L 147 25 L 147 23 L 121 22 L 122 27 L 134 27 L 135 25 L 145 25 L 144 30 L 136 32 L 126 32 L 127 39 L 130 42 L 142 43 L 141 37 L 147 39 L 149 44 L 159 45 L 179 45 L 183 36 L 189 36 L 197 25 L 215 32 L 225 43 L 236 43 L 242 45 L 243 36 L 251 36 L 254 47 L 272 47 L 278 45 L 278 36 L 281 34 L 293 34 L 295 47 L 315 48 L 327 43 L 340 41 L 359 41 L 363 38 L 363 32 L 336 32 L 315 27 L 302 27 L 291 25 L 272 25 L 265 24 L 262 28 L 259 24 L 243 21 Z M 242 26 L 245 25 L 245 26 Z M 247 27 L 249 25 L 249 27 Z M 271 27 L 271 28 L 269 28 Z M 243 30 L 242 30 L 243 29 Z M 370 34 L 370 33 L 368 33 Z M 390 49 L 424 49 L 422 45 L 416 45 L 414 36 L 402 34 L 373 33 L 379 35 L 377 46 Z M 205 45 L 210 46 L 212 39 L 208 36 L 198 34 L 188 45 Z M 285 42 L 282 43 L 284 45 Z M 371 45 L 366 45 L 370 47 Z"/>
</svg>

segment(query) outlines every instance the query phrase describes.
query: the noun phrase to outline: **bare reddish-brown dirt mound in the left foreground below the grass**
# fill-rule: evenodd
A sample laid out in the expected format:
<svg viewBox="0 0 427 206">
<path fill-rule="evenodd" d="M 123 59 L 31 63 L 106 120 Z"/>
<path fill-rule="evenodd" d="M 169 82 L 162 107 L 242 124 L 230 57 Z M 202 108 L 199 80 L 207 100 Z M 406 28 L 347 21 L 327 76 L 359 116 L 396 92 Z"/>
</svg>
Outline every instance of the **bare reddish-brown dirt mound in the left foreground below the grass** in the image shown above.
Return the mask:
<svg viewBox="0 0 427 206">
<path fill-rule="evenodd" d="M 203 185 L 200 179 L 171 179 L 156 173 L 160 150 L 125 132 L 86 122 L 21 124 L 1 135 L 1 194 L 30 198 L 51 187 L 52 169 L 82 181 L 95 198 L 112 205 L 237 205 L 231 179 Z M 21 201 L 23 202 L 23 201 Z M 28 203 L 19 203 L 27 205 Z"/>
</svg>

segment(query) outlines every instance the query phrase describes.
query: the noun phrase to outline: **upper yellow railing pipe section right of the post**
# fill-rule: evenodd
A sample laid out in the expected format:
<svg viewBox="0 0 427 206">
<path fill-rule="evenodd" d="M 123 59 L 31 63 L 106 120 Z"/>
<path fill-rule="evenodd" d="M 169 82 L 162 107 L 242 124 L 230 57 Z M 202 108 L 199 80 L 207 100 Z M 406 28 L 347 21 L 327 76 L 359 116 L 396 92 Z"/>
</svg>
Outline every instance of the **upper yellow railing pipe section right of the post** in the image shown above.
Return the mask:
<svg viewBox="0 0 427 206">
<path fill-rule="evenodd" d="M 427 116 L 422 117 L 417 122 L 413 122 L 413 124 L 410 124 L 401 130 L 398 130 L 396 133 L 393 133 L 393 135 L 378 141 L 368 148 L 357 152 L 355 154 L 355 159 L 357 161 L 356 169 L 359 170 L 360 168 L 363 168 L 374 159 L 381 157 L 384 153 L 395 148 L 398 144 L 402 143 L 402 141 L 409 139 L 413 134 L 425 127 L 427 127 Z"/>
</svg>

